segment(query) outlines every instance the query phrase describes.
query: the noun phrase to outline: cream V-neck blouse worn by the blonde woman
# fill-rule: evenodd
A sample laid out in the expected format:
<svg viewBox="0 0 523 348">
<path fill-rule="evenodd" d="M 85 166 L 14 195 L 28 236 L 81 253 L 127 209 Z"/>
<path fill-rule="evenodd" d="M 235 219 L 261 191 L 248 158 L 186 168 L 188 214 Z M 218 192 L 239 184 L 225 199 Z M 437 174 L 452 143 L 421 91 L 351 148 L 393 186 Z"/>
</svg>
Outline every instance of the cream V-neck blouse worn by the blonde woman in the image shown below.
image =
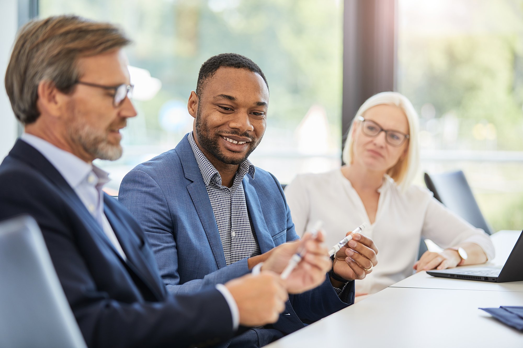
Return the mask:
<svg viewBox="0 0 523 348">
<path fill-rule="evenodd" d="M 308 224 L 323 222 L 328 247 L 349 230 L 366 222 L 363 234 L 378 247 L 378 264 L 365 279 L 356 282 L 356 292 L 376 293 L 412 275 L 420 237 L 442 248 L 462 242 L 479 245 L 488 260 L 494 246 L 488 235 L 439 203 L 425 188 L 411 185 L 404 193 L 387 175 L 378 189 L 376 220 L 371 225 L 365 206 L 340 169 L 321 174 L 299 175 L 285 188 L 296 233 L 302 236 Z"/>
</svg>

